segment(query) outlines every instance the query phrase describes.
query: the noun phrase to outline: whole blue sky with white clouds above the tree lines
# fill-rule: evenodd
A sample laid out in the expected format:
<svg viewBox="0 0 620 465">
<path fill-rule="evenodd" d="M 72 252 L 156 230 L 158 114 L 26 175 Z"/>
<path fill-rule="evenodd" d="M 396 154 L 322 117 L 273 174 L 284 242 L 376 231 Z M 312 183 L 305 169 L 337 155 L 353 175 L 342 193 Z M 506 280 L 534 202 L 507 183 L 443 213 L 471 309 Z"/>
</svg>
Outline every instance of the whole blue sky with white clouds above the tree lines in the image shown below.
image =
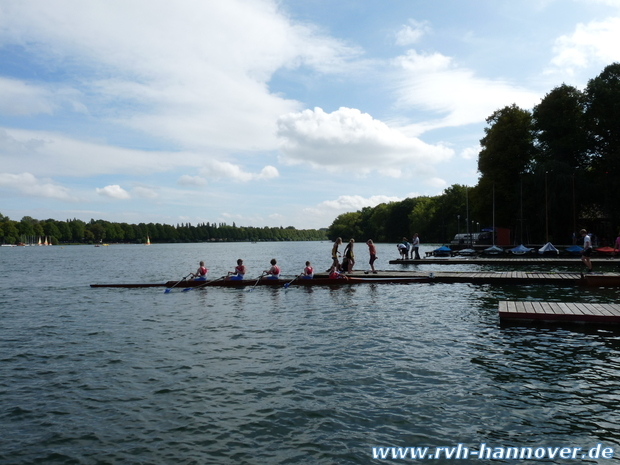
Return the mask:
<svg viewBox="0 0 620 465">
<path fill-rule="evenodd" d="M 620 0 L 0 0 L 0 213 L 328 227 L 478 181 Z"/>
</svg>

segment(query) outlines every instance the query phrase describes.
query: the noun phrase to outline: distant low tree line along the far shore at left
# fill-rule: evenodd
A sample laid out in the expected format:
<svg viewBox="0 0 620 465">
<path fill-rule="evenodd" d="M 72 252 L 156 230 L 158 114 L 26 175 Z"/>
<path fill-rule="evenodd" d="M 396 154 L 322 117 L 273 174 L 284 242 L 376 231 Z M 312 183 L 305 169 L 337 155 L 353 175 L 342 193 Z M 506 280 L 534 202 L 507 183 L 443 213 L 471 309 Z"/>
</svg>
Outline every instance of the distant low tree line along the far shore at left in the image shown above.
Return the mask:
<svg viewBox="0 0 620 465">
<path fill-rule="evenodd" d="M 238 227 L 226 223 L 190 223 L 172 226 L 160 223 L 114 223 L 105 220 L 78 219 L 57 221 L 36 220 L 24 216 L 13 221 L 0 214 L 0 242 L 5 244 L 37 242 L 48 238 L 52 244 L 126 242 L 206 242 L 206 241 L 320 241 L 325 240 L 325 230 L 295 229 L 289 227 Z"/>
</svg>

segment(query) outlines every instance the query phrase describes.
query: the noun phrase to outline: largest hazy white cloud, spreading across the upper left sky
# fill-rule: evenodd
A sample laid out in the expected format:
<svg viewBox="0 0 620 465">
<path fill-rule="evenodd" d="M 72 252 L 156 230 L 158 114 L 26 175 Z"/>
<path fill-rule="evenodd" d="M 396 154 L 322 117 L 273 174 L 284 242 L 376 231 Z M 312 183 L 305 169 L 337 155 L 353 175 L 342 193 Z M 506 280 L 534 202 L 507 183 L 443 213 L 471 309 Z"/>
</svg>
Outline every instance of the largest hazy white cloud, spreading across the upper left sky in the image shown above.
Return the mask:
<svg viewBox="0 0 620 465">
<path fill-rule="evenodd" d="M 361 54 L 294 22 L 273 0 L 11 2 L 0 43 L 27 43 L 35 60 L 70 67 L 87 107 L 113 103 L 107 119 L 188 150 L 273 149 L 276 118 L 299 109 L 270 92 L 273 73 L 340 73 Z M 21 101 L 47 97 L 24 109 L 51 112 L 49 89 L 16 86 Z"/>
</svg>

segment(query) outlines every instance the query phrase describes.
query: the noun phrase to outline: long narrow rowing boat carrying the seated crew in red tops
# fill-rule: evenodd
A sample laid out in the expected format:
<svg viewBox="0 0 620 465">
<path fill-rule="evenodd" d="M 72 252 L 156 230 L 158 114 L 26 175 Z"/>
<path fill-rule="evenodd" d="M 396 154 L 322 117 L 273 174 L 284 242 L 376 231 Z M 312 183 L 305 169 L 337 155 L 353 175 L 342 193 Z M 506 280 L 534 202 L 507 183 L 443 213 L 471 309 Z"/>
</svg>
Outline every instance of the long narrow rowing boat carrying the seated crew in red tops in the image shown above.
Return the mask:
<svg viewBox="0 0 620 465">
<path fill-rule="evenodd" d="M 91 284 L 90 287 L 126 287 L 126 288 L 135 288 L 135 287 L 178 287 L 178 288 L 187 288 L 187 287 L 245 287 L 245 286 L 284 286 L 289 283 L 291 286 L 342 286 L 342 285 L 353 285 L 353 284 L 409 284 L 409 283 L 426 283 L 429 282 L 430 278 L 427 277 L 368 277 L 368 278 L 357 278 L 357 277 L 347 277 L 347 278 L 338 278 L 338 279 L 330 279 L 330 278 L 313 278 L 313 279 L 296 279 L 294 281 L 290 281 L 287 279 L 259 279 L 258 281 L 255 279 L 243 279 L 243 280 L 232 280 L 232 279 L 212 279 L 208 281 L 168 281 L 166 283 L 147 283 L 147 284 Z M 287 286 L 288 287 L 288 286 Z"/>
</svg>

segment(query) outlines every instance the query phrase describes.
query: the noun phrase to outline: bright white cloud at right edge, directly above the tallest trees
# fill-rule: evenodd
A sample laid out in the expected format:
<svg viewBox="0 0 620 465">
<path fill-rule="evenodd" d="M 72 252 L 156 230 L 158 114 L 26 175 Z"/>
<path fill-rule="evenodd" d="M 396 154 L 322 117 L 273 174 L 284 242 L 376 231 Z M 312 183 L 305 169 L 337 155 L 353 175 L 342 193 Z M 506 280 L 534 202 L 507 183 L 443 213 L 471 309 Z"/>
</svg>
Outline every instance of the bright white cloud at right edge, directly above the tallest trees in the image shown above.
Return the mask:
<svg viewBox="0 0 620 465">
<path fill-rule="evenodd" d="M 620 18 L 578 24 L 572 34 L 558 37 L 551 64 L 567 73 L 592 64 L 607 65 L 620 60 Z"/>
</svg>

